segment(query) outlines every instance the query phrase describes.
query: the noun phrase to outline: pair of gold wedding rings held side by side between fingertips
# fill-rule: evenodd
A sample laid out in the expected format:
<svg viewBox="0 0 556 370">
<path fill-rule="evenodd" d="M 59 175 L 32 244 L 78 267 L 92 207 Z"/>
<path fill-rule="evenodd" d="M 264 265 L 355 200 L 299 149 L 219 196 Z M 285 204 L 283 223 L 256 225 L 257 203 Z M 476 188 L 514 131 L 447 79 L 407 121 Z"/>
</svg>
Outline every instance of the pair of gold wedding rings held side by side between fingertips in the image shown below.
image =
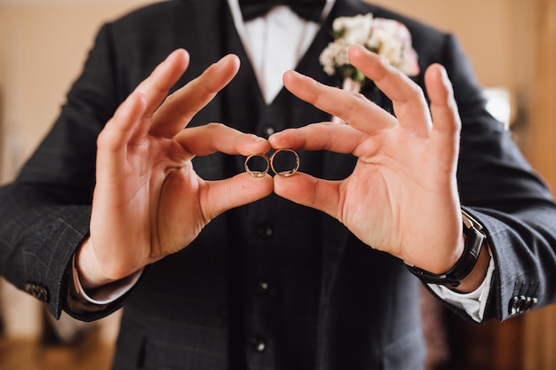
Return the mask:
<svg viewBox="0 0 556 370">
<path fill-rule="evenodd" d="M 295 160 L 295 163 L 292 160 Z M 290 168 L 290 166 L 293 167 Z M 272 169 L 278 176 L 290 177 L 298 172 L 299 155 L 293 149 L 277 149 L 270 158 L 266 154 L 250 154 L 245 159 L 244 167 L 245 171 L 252 177 L 263 177 L 269 169 Z M 283 167 L 287 169 L 283 169 Z"/>
</svg>

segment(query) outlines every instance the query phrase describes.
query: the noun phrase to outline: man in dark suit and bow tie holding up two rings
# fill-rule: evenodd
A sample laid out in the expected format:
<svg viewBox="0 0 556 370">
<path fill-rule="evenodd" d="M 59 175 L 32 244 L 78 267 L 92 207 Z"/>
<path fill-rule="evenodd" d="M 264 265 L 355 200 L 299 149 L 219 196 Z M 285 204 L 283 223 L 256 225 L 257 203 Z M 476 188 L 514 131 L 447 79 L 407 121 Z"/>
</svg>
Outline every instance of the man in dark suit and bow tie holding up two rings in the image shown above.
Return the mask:
<svg viewBox="0 0 556 370">
<path fill-rule="evenodd" d="M 328 87 L 332 21 L 369 12 L 409 29 L 415 83 L 353 47 L 375 84 Z M 552 303 L 556 205 L 455 38 L 356 0 L 318 13 L 250 20 L 234 0 L 171 0 L 101 28 L 1 189 L 2 274 L 54 316 L 124 306 L 115 369 L 421 368 L 409 271 L 475 321 Z M 288 32 L 286 90 L 266 54 L 282 46 L 266 42 Z M 331 115 L 348 124 L 308 124 Z M 244 173 L 245 156 L 280 148 L 298 173 Z"/>
</svg>

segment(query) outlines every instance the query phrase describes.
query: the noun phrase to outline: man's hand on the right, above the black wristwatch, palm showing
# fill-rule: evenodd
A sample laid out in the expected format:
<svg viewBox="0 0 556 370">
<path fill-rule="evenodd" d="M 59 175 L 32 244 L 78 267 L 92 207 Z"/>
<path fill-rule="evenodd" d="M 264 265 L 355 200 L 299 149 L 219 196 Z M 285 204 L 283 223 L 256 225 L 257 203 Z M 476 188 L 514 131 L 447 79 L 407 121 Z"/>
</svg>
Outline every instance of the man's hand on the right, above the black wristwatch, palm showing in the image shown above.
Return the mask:
<svg viewBox="0 0 556 370">
<path fill-rule="evenodd" d="M 447 272 L 464 244 L 456 180 L 461 122 L 449 79 L 439 65 L 426 71 L 429 110 L 417 84 L 376 54 L 355 46 L 349 58 L 392 99 L 396 116 L 361 94 L 288 72 L 288 90 L 347 124 L 284 130 L 269 138 L 271 145 L 353 154 L 358 161 L 341 181 L 274 177 L 274 192 L 336 217 L 372 248 Z"/>
</svg>

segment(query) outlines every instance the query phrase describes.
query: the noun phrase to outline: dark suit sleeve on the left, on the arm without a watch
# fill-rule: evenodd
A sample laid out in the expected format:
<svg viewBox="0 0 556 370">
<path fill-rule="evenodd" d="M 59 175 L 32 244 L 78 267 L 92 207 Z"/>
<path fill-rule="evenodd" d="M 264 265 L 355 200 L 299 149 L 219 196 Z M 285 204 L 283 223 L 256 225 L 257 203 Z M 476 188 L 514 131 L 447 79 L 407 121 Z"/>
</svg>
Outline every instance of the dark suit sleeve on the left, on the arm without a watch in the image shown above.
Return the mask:
<svg viewBox="0 0 556 370">
<path fill-rule="evenodd" d="M 0 189 L 0 273 L 56 318 L 68 309 L 68 265 L 89 233 L 96 138 L 123 99 L 113 60 L 105 26 L 52 130 L 15 181 Z M 123 299 L 80 319 L 99 319 Z"/>
</svg>

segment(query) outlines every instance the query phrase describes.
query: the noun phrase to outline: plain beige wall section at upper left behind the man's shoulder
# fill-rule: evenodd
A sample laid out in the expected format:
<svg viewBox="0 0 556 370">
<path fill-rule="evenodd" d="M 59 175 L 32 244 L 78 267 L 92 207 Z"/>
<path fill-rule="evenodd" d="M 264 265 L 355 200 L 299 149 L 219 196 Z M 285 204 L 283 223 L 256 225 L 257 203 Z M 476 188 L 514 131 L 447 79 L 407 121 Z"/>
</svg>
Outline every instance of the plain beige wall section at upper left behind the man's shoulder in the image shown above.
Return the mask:
<svg viewBox="0 0 556 370">
<path fill-rule="evenodd" d="M 0 2 L 0 182 L 12 178 L 58 115 L 101 22 L 147 2 Z"/>
</svg>

